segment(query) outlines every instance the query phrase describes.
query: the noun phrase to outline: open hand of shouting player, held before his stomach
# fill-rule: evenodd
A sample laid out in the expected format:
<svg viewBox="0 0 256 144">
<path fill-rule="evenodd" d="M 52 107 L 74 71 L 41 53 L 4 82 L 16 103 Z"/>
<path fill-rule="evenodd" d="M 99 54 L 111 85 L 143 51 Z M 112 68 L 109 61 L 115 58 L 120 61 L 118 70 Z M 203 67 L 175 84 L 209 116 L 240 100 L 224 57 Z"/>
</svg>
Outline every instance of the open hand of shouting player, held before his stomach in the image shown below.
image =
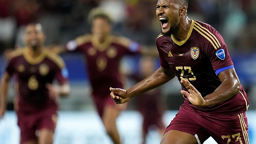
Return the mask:
<svg viewBox="0 0 256 144">
<path fill-rule="evenodd" d="M 181 90 L 180 92 L 189 99 L 191 104 L 195 106 L 200 106 L 200 107 L 205 106 L 204 105 L 205 101 L 201 93 L 198 92 L 198 90 L 192 84 L 190 84 L 188 80 L 185 80 L 184 78 L 182 78 L 180 83 L 183 84 L 183 86 L 185 86 L 186 89 L 189 90 L 189 92 L 185 90 Z"/>
</svg>

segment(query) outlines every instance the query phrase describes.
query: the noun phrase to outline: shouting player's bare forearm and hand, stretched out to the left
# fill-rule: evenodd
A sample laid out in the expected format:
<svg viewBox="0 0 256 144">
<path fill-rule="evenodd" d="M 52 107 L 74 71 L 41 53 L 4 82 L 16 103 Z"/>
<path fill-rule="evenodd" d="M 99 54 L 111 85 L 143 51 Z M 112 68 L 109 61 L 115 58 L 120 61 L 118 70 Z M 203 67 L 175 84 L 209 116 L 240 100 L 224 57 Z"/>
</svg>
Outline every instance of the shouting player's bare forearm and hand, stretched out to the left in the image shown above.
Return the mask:
<svg viewBox="0 0 256 144">
<path fill-rule="evenodd" d="M 110 95 L 116 104 L 122 104 L 129 101 L 134 96 L 167 83 L 174 77 L 175 75 L 172 73 L 171 69 L 160 67 L 153 74 L 135 84 L 130 89 L 110 88 Z"/>
</svg>

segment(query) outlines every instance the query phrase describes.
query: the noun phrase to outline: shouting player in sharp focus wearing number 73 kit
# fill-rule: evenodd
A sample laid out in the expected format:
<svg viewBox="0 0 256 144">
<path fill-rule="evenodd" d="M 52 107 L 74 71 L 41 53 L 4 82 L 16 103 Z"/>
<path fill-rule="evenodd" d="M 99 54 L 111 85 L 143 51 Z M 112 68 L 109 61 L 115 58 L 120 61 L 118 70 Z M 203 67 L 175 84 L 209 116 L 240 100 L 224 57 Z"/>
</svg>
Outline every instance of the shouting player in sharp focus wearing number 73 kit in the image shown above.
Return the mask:
<svg viewBox="0 0 256 144">
<path fill-rule="evenodd" d="M 128 90 L 110 88 L 113 100 L 125 103 L 177 76 L 184 103 L 161 144 L 203 144 L 210 136 L 218 144 L 249 144 L 249 101 L 221 35 L 187 17 L 188 0 L 158 0 L 156 8 L 161 67 Z"/>
</svg>

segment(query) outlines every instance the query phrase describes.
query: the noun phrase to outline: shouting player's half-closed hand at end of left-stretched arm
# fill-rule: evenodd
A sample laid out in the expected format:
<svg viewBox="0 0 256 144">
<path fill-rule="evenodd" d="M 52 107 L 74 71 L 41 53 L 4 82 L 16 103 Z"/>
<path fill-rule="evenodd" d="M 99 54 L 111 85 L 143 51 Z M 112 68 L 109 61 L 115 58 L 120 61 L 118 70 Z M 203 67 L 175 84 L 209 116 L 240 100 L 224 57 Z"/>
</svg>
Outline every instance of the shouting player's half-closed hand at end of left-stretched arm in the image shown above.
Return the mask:
<svg viewBox="0 0 256 144">
<path fill-rule="evenodd" d="M 109 90 L 111 91 L 110 96 L 116 102 L 116 104 L 123 104 L 131 99 L 128 97 L 125 89 L 111 87 Z"/>
</svg>

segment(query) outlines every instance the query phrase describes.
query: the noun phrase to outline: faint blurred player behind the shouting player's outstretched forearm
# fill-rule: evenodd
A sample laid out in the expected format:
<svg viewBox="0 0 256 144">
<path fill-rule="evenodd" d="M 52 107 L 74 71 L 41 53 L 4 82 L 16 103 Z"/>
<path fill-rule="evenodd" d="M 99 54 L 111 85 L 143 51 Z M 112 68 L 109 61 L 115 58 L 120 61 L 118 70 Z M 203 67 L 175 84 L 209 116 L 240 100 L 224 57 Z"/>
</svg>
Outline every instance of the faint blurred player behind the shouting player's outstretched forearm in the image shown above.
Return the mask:
<svg viewBox="0 0 256 144">
<path fill-rule="evenodd" d="M 138 70 L 139 72 L 134 72 L 134 75 L 131 76 L 136 82 L 142 81 L 157 70 L 157 59 L 142 56 L 139 60 Z M 163 135 L 166 129 L 162 118 L 166 106 L 163 102 L 161 88 L 157 87 L 148 92 L 144 92 L 136 98 L 136 101 L 136 107 L 143 116 L 142 144 L 146 144 L 146 138 L 150 130 L 158 130 L 160 135 Z"/>
</svg>

